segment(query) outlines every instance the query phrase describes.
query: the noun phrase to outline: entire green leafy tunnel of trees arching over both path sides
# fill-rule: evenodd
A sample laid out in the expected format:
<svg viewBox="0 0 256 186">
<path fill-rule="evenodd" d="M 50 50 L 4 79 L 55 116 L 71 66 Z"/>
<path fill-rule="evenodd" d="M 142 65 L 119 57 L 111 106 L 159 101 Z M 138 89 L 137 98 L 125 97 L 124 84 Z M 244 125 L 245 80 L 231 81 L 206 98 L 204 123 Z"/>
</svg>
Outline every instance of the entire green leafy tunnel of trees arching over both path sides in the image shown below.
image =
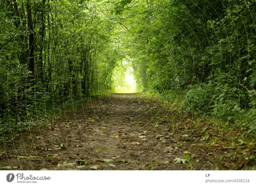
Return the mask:
<svg viewBox="0 0 256 186">
<path fill-rule="evenodd" d="M 179 114 L 255 132 L 255 6 L 243 0 L 1 1 L 1 130 L 26 128 L 68 101 L 129 90 L 128 67 L 121 64 L 127 59 L 137 91 L 179 100 Z"/>
</svg>

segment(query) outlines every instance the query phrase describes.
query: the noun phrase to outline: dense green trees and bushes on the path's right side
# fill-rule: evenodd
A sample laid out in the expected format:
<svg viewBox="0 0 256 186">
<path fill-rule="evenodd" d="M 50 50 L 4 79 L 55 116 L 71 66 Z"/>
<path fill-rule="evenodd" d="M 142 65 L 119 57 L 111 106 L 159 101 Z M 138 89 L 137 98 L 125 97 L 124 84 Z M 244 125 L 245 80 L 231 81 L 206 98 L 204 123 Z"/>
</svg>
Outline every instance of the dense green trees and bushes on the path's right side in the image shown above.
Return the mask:
<svg viewBox="0 0 256 186">
<path fill-rule="evenodd" d="M 255 132 L 255 6 L 242 0 L 125 5 L 123 44 L 139 88 L 168 101 L 179 97 L 184 114 Z"/>
</svg>

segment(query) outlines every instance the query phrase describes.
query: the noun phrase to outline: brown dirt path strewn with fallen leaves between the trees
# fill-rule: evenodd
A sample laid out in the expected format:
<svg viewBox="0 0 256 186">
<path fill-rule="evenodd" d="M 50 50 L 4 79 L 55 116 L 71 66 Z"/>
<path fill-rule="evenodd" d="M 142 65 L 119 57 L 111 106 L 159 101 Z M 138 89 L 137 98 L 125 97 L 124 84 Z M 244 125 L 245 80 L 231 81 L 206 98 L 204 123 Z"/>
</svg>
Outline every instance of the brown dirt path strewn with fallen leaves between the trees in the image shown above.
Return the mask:
<svg viewBox="0 0 256 186">
<path fill-rule="evenodd" d="M 141 94 L 110 94 L 1 144 L 2 170 L 251 170 L 255 141 L 182 118 Z"/>
</svg>

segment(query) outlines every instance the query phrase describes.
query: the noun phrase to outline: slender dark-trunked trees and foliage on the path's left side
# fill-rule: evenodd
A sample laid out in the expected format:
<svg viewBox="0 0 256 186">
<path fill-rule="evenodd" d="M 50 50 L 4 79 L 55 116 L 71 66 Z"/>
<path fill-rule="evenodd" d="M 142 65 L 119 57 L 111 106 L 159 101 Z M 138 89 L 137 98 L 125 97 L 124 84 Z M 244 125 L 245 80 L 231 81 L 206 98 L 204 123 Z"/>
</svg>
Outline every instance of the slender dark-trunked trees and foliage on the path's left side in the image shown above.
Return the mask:
<svg viewBox="0 0 256 186">
<path fill-rule="evenodd" d="M 115 20 L 103 12 L 109 7 L 103 10 L 99 4 L 80 0 L 0 2 L 3 133 L 41 125 L 55 107 L 102 94 L 111 87 L 113 69 L 122 55 L 112 42 L 116 40 Z M 28 25 L 30 21 L 33 24 Z"/>
</svg>

